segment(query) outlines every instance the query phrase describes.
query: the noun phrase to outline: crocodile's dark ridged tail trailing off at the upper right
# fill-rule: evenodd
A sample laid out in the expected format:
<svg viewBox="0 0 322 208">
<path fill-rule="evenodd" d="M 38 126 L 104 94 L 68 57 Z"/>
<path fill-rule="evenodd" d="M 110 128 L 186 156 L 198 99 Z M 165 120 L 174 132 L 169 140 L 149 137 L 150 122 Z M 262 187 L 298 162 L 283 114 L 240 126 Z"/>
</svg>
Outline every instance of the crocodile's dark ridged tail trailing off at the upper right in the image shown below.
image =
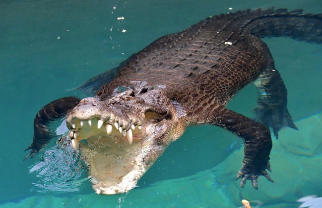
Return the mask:
<svg viewBox="0 0 322 208">
<path fill-rule="evenodd" d="M 260 38 L 287 36 L 295 40 L 322 43 L 322 14 L 302 13 L 302 9 L 256 9 L 253 18 L 241 26 Z"/>
</svg>

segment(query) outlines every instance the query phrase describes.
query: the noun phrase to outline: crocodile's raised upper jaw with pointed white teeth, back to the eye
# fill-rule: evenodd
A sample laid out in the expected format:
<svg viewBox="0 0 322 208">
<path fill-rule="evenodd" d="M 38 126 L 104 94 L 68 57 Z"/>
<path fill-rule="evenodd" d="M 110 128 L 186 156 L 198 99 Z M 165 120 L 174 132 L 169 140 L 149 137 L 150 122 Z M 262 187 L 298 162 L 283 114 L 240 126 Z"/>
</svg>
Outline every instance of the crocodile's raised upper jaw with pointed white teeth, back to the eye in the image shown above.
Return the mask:
<svg viewBox="0 0 322 208">
<path fill-rule="evenodd" d="M 111 135 L 113 129 L 120 132 L 113 135 L 122 135 L 132 144 L 135 137 L 144 136 L 144 123 L 155 122 L 171 114 L 167 108 L 151 104 L 153 102 L 148 99 L 135 97 L 133 91 L 121 93 L 108 101 L 98 98 L 81 100 L 66 118 L 72 146 L 77 149 L 78 141 L 97 134 Z"/>
</svg>

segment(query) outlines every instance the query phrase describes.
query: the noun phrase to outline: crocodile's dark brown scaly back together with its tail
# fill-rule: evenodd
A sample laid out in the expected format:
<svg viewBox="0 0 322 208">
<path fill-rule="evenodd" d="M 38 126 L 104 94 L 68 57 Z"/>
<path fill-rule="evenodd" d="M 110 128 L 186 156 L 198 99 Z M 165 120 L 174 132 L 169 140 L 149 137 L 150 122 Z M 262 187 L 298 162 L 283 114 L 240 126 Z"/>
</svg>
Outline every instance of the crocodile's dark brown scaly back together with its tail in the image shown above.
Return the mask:
<svg viewBox="0 0 322 208">
<path fill-rule="evenodd" d="M 269 49 L 258 37 L 322 42 L 321 15 L 301 12 L 257 9 L 209 17 L 133 55 L 97 95 L 105 99 L 130 81 L 145 81 L 149 86 L 165 86 L 168 97 L 181 103 L 188 115 L 207 113 L 226 105 L 273 64 Z"/>
</svg>

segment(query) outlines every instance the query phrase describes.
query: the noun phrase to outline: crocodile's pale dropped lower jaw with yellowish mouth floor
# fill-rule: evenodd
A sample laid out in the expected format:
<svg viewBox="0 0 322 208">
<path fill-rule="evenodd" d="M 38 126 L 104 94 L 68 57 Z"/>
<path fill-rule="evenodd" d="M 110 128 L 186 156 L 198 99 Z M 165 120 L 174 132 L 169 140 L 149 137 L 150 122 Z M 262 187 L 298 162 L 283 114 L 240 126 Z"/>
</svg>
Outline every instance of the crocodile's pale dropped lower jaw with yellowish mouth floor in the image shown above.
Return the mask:
<svg viewBox="0 0 322 208">
<path fill-rule="evenodd" d="M 164 147 L 152 139 L 132 144 L 111 144 L 104 138 L 87 139 L 80 143 L 82 160 L 89 167 L 92 187 L 97 194 L 114 195 L 129 192 Z"/>
</svg>

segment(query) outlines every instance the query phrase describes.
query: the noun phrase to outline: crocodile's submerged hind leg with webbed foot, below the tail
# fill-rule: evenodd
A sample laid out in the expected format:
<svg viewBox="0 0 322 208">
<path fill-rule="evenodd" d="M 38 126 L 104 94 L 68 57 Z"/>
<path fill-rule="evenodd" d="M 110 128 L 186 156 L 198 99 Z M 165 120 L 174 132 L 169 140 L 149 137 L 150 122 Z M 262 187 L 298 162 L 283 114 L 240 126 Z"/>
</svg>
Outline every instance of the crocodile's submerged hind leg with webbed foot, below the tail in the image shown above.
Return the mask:
<svg viewBox="0 0 322 208">
<path fill-rule="evenodd" d="M 255 81 L 258 89 L 258 105 L 254 113 L 259 122 L 273 129 L 278 138 L 278 131 L 283 127 L 298 129 L 287 109 L 287 90 L 275 69 L 266 69 Z"/>
</svg>

